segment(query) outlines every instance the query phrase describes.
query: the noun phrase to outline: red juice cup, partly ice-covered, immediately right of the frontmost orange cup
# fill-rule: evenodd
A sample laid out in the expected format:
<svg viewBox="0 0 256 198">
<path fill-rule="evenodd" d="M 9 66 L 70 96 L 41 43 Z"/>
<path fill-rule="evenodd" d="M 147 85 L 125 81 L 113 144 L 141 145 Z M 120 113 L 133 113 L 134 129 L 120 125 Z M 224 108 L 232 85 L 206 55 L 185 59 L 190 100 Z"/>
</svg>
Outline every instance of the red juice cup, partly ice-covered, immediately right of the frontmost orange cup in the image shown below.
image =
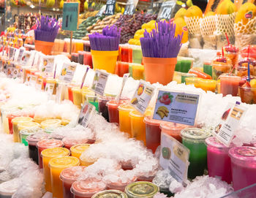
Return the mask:
<svg viewBox="0 0 256 198">
<path fill-rule="evenodd" d="M 72 183 L 78 180 L 80 174 L 85 170 L 86 167 L 78 166 L 78 167 L 69 167 L 61 171 L 61 181 L 63 187 L 63 198 L 73 197 L 70 191 Z"/>
</svg>

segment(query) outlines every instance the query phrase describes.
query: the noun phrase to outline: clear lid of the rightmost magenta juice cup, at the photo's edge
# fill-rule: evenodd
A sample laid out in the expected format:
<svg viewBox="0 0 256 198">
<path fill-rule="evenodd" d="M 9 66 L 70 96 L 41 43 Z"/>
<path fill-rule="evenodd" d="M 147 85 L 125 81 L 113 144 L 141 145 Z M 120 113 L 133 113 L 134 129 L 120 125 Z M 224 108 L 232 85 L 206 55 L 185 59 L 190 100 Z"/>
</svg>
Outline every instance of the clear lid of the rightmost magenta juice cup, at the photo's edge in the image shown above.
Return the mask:
<svg viewBox="0 0 256 198">
<path fill-rule="evenodd" d="M 249 146 L 240 146 L 230 148 L 228 151 L 230 158 L 241 161 L 255 161 L 256 162 L 256 148 Z"/>
</svg>

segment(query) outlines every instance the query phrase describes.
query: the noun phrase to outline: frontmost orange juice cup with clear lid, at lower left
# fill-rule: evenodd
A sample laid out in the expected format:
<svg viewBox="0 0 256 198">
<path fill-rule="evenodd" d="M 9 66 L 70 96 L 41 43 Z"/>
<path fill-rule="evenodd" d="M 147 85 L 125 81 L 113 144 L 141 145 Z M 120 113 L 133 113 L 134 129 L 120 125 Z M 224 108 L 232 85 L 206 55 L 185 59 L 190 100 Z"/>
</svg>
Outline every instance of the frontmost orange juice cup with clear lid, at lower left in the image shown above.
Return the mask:
<svg viewBox="0 0 256 198">
<path fill-rule="evenodd" d="M 60 179 L 61 171 L 68 167 L 79 166 L 79 164 L 79 159 L 72 156 L 64 156 L 50 159 L 50 180 L 53 191 L 53 197 L 63 198 L 62 182 Z"/>
</svg>

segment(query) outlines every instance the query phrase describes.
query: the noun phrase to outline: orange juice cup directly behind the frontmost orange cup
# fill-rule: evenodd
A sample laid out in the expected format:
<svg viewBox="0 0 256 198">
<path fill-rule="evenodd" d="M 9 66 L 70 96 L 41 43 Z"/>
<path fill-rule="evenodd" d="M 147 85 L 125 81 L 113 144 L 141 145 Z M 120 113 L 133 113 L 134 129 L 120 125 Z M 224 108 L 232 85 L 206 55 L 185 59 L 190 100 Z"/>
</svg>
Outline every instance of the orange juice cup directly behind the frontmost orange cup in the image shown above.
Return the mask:
<svg viewBox="0 0 256 198">
<path fill-rule="evenodd" d="M 44 172 L 45 178 L 45 190 L 52 192 L 52 186 L 50 182 L 50 167 L 49 161 L 50 159 L 54 159 L 56 157 L 69 156 L 69 150 L 67 148 L 47 148 L 41 153 L 42 156 L 42 168 Z"/>
</svg>

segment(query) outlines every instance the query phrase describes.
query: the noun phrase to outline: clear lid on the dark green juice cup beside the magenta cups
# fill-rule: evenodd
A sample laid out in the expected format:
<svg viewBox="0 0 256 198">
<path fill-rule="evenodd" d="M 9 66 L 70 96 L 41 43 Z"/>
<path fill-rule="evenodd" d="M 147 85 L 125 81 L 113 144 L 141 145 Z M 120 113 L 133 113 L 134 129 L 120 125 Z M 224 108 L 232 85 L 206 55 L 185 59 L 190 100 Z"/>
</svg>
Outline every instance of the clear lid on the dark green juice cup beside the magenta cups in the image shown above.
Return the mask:
<svg viewBox="0 0 256 198">
<path fill-rule="evenodd" d="M 206 138 L 210 136 L 211 136 L 211 133 L 203 129 L 187 128 L 187 129 L 181 130 L 181 137 L 187 138 L 189 140 L 206 140 Z"/>
</svg>

